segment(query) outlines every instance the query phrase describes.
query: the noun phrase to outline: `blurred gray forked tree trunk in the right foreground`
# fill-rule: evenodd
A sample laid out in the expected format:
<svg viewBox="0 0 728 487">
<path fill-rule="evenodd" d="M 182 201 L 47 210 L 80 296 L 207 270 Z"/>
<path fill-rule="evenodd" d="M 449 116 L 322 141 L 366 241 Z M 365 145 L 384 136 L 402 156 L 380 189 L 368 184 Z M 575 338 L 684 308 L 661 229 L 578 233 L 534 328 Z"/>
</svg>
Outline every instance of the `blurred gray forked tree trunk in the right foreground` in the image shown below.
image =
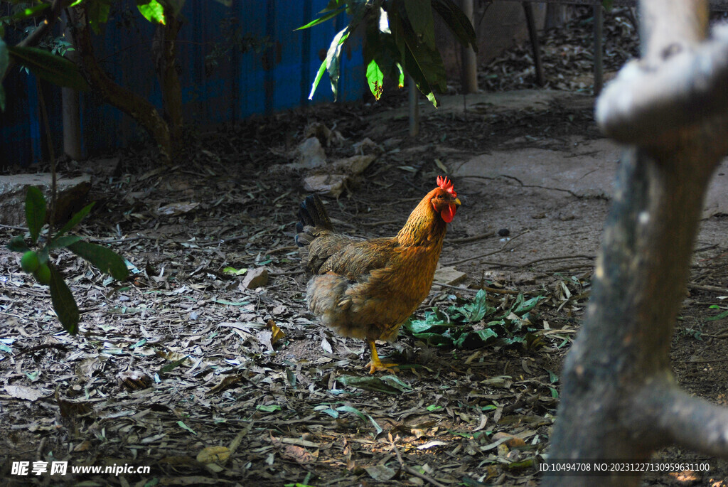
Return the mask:
<svg viewBox="0 0 728 487">
<path fill-rule="evenodd" d="M 628 149 L 585 322 L 564 364 L 550 459 L 647 459 L 675 443 L 728 458 L 728 410 L 683 392 L 669 360 L 703 197 L 728 152 L 728 28 L 706 39 L 705 0 L 640 8 L 642 59 L 622 68 L 597 105 L 602 130 Z"/>
</svg>

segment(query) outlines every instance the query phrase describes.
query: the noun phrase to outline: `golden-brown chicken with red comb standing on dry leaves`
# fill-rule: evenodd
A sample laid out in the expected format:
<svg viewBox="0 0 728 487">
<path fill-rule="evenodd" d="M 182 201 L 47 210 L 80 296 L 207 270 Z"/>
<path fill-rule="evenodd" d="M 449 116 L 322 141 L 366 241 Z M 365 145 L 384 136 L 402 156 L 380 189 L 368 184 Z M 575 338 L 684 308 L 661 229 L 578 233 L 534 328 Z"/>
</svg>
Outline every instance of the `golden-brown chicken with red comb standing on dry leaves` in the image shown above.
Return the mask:
<svg viewBox="0 0 728 487">
<path fill-rule="evenodd" d="M 323 325 L 369 344 L 369 373 L 390 371 L 376 340 L 394 341 L 400 325 L 430 293 L 447 223 L 460 200 L 448 178 L 427 193 L 396 237 L 359 239 L 333 231 L 323 202 L 307 197 L 298 210 L 296 245 L 313 277 L 309 309 Z"/>
</svg>

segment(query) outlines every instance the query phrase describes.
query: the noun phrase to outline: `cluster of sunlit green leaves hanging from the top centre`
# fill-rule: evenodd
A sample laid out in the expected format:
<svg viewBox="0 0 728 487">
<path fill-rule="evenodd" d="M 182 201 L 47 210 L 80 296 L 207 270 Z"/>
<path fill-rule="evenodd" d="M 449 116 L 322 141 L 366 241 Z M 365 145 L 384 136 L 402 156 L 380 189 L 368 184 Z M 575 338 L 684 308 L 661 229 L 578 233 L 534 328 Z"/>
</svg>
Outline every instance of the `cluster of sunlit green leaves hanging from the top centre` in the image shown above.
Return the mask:
<svg viewBox="0 0 728 487">
<path fill-rule="evenodd" d="M 336 98 L 336 84 L 339 81 L 339 59 L 341 44 L 347 41 L 349 33 L 363 24 L 364 63 L 367 66 L 369 88 L 379 99 L 385 77 L 397 80 L 402 87 L 404 71 L 412 76 L 417 88 L 437 106 L 434 90 L 446 90 L 443 61 L 435 45 L 435 20 L 433 12 L 442 17 L 444 23 L 465 47 L 475 46 L 475 30 L 470 20 L 452 0 L 331 0 L 320 13 L 299 29 L 310 28 L 330 20 L 341 13 L 349 16 L 349 25 L 336 34 L 321 64 L 312 86 L 312 98 L 323 72 L 328 71 L 331 88 Z"/>
</svg>

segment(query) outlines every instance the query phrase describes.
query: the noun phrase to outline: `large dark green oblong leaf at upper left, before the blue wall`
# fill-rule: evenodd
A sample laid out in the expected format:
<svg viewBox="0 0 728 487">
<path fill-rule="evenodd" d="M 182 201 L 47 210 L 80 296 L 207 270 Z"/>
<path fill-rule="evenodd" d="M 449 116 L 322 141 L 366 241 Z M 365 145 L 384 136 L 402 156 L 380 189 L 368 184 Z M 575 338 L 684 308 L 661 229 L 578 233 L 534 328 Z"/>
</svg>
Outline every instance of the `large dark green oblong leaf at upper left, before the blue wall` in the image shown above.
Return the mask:
<svg viewBox="0 0 728 487">
<path fill-rule="evenodd" d="M 7 50 L 18 64 L 30 69 L 33 74 L 47 82 L 79 91 L 89 90 L 79 68 L 66 58 L 37 47 L 10 46 Z"/>
</svg>

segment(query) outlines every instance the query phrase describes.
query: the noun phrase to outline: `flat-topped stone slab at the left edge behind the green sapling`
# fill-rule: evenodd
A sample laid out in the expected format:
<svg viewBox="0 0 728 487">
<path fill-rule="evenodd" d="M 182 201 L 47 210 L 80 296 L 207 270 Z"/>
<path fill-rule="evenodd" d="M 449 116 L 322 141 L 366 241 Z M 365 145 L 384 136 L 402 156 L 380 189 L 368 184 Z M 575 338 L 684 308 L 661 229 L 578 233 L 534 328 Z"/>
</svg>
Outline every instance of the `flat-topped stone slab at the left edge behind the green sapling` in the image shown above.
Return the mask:
<svg viewBox="0 0 728 487">
<path fill-rule="evenodd" d="M 91 176 L 58 178 L 56 184 L 58 200 L 55 220 L 63 223 L 86 205 Z M 37 186 L 43 191 L 46 201 L 50 202 L 50 173 L 0 176 L 0 223 L 25 226 L 25 191 L 28 186 Z"/>
</svg>

